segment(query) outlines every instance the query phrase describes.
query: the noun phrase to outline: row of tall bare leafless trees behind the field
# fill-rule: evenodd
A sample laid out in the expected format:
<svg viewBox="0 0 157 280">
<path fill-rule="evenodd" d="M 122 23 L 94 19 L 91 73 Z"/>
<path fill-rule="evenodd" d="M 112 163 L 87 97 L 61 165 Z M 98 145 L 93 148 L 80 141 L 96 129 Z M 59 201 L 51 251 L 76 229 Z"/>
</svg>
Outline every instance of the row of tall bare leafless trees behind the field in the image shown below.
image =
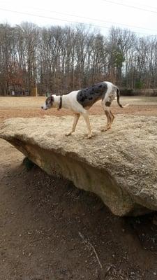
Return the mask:
<svg viewBox="0 0 157 280">
<path fill-rule="evenodd" d="M 157 36 L 112 27 L 107 36 L 77 25 L 0 25 L 0 94 L 63 93 L 102 80 L 127 89 L 157 87 Z"/>
</svg>

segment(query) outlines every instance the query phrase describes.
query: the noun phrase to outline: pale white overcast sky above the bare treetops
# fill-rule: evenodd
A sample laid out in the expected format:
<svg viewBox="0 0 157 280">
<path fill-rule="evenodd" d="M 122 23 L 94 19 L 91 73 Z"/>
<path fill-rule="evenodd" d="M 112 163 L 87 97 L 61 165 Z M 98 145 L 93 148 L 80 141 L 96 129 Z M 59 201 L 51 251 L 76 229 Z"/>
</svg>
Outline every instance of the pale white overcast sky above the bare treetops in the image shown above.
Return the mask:
<svg viewBox="0 0 157 280">
<path fill-rule="evenodd" d="M 40 27 L 82 22 L 107 34 L 110 27 L 135 31 L 139 36 L 157 35 L 156 0 L 1 0 L 0 22 Z"/>
</svg>

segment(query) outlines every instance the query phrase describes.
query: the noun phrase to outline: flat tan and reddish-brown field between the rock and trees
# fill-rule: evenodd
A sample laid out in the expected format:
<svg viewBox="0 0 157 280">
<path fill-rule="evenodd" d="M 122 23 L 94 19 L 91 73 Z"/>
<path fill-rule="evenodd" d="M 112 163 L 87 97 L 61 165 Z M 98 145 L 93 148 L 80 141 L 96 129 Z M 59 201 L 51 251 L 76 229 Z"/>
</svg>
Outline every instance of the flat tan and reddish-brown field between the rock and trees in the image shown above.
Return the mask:
<svg viewBox="0 0 157 280">
<path fill-rule="evenodd" d="M 40 106 L 45 102 L 45 97 L 0 97 L 0 120 L 6 118 L 32 118 L 45 115 L 48 116 L 65 116 L 72 115 L 72 113 L 66 109 L 57 109 L 43 111 Z M 112 104 L 112 112 L 114 114 L 134 114 L 143 116 L 157 116 L 157 97 L 121 97 L 121 104 L 130 104 L 125 109 L 121 109 L 117 106 L 117 102 Z M 101 107 L 101 103 L 97 102 L 91 107 L 89 112 L 93 115 L 104 114 Z"/>
</svg>

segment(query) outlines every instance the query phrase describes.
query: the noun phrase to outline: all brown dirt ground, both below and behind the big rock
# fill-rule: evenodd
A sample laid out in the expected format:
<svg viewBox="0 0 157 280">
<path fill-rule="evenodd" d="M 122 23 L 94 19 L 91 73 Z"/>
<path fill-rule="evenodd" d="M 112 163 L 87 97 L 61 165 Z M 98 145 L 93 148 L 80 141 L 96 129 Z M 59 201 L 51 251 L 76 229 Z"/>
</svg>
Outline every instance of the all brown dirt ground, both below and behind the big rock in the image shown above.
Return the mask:
<svg viewBox="0 0 157 280">
<path fill-rule="evenodd" d="M 44 97 L 0 97 L 6 118 L 63 116 L 43 112 Z M 155 97 L 123 97 L 114 114 L 157 116 Z M 92 114 L 103 110 L 97 103 Z M 37 124 L 39 125 L 39 124 Z M 155 280 L 157 214 L 113 216 L 91 193 L 24 165 L 24 156 L 0 139 L 0 280 Z"/>
</svg>

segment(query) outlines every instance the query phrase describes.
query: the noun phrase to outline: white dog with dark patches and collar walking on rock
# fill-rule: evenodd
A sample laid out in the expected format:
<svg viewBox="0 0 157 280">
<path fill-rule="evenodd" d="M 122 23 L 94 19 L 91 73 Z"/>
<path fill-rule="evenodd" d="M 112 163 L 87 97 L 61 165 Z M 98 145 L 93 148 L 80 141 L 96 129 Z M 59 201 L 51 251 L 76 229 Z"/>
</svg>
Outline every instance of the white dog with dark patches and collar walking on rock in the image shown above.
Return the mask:
<svg viewBox="0 0 157 280">
<path fill-rule="evenodd" d="M 62 107 L 65 109 L 70 109 L 75 114 L 72 130 L 66 134 L 66 136 L 75 132 L 77 122 L 80 115 L 84 117 L 88 128 L 88 138 L 92 137 L 91 125 L 89 123 L 88 109 L 96 103 L 98 100 L 102 100 L 102 106 L 107 116 L 107 125 L 101 130 L 106 131 L 111 128 L 114 120 L 114 115 L 110 110 L 110 105 L 112 101 L 117 98 L 117 103 L 121 108 L 128 106 L 122 106 L 119 103 L 120 91 L 116 85 L 110 82 L 97 83 L 96 85 L 91 85 L 90 87 L 84 88 L 83 90 L 76 90 L 65 95 L 55 95 L 47 97 L 45 104 L 41 107 L 43 110 Z"/>
</svg>

